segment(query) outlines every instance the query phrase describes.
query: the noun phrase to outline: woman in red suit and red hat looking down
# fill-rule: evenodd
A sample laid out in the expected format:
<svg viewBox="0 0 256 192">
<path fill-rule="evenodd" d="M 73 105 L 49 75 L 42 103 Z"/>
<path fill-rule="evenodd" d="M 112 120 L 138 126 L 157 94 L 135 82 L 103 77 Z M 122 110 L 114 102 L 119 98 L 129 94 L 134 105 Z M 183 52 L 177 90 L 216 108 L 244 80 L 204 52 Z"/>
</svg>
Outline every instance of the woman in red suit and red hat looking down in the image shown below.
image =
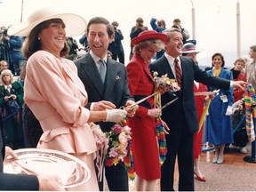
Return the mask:
<svg viewBox="0 0 256 192">
<path fill-rule="evenodd" d="M 141 100 L 155 89 L 148 63 L 164 48 L 167 36 L 154 30 L 141 32 L 132 39 L 133 57 L 127 65 L 129 88 L 134 100 Z M 140 103 L 135 116 L 129 119 L 132 128 L 132 155 L 136 172 L 137 191 L 156 191 L 156 180 L 161 177 L 161 165 L 156 141 L 156 116 L 161 110 L 154 108 L 154 98 Z"/>
</svg>

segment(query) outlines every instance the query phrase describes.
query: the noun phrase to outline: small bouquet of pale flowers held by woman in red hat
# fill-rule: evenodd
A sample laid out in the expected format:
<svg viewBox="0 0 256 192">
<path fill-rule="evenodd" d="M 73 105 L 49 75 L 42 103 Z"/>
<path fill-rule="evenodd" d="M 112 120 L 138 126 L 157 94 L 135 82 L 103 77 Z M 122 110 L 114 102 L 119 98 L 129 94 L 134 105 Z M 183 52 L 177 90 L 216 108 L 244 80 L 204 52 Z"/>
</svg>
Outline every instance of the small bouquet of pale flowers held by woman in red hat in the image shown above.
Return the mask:
<svg viewBox="0 0 256 192">
<path fill-rule="evenodd" d="M 158 76 L 156 71 L 153 72 L 154 83 L 156 86 L 156 92 L 178 92 L 180 91 L 180 86 L 175 81 L 175 79 L 170 79 L 167 74 L 164 76 Z"/>
</svg>

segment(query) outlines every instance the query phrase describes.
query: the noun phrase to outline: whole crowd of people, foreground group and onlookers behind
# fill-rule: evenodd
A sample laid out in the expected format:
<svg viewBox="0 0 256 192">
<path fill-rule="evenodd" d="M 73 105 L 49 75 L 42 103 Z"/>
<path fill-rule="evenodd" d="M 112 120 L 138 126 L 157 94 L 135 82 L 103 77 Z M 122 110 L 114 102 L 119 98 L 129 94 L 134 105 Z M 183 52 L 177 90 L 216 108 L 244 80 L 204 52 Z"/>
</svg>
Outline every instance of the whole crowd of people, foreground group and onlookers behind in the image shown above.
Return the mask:
<svg viewBox="0 0 256 192">
<path fill-rule="evenodd" d="M 93 17 L 86 24 L 77 14 L 42 9 L 30 15 L 27 25 L 20 23 L 8 29 L 4 39 L 19 39 L 22 44 L 12 52 L 20 52 L 22 57 L 0 61 L 0 189 L 64 189 L 58 177 L 3 172 L 6 155 L 18 158 L 12 149 L 33 143 L 35 148 L 59 150 L 88 165 L 90 180 L 68 190 L 103 190 L 106 178 L 109 190 L 129 191 L 124 162 L 105 165 L 103 180 L 97 179 L 102 170 L 95 165 L 97 151 L 106 145 L 105 133 L 124 118 L 132 128 L 136 190 L 156 191 L 157 180 L 161 191 L 174 190 L 177 159 L 178 189 L 194 191 L 195 178 L 207 180 L 199 166 L 203 140 L 214 146 L 212 163 L 224 162 L 225 147 L 234 143 L 234 98 L 243 100 L 248 84 L 256 88 L 256 45 L 250 47 L 252 61 L 238 58 L 234 68 L 228 70 L 224 68 L 224 56 L 216 52 L 212 68 L 206 71 L 196 60 L 200 52 L 196 40 L 188 39 L 188 31 L 179 19 L 167 28 L 164 20 L 152 18 L 150 29 L 140 17 L 131 30 L 129 61 L 124 62 L 124 36 L 118 26 L 116 20 L 110 23 L 103 17 Z M 74 51 L 78 46 L 72 36 L 82 34 L 79 42 L 86 51 L 77 58 Z M 163 109 L 154 105 L 153 97 L 147 99 L 156 91 L 156 72 L 175 79 L 180 86 L 175 94 L 161 92 L 160 101 L 167 105 Z M 195 95 L 217 91 L 210 96 Z M 144 101 L 138 103 L 140 100 Z M 175 102 L 168 105 L 170 100 Z M 205 117 L 206 100 L 211 104 Z M 158 116 L 162 118 L 167 146 L 163 164 L 156 140 Z M 37 125 L 33 126 L 29 118 Z M 205 118 L 205 124 L 199 127 L 201 118 Z M 38 137 L 29 133 L 25 137 L 25 127 L 26 132 L 37 132 Z"/>
</svg>

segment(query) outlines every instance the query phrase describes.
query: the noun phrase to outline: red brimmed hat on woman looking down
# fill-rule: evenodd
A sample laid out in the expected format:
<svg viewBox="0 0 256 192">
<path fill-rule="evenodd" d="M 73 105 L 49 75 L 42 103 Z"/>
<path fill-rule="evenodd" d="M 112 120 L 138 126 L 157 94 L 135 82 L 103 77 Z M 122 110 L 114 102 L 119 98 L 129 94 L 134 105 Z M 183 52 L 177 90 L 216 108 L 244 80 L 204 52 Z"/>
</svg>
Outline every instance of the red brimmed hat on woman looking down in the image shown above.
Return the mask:
<svg viewBox="0 0 256 192">
<path fill-rule="evenodd" d="M 165 42 L 167 40 L 167 36 L 163 33 L 158 33 L 155 30 L 145 30 L 142 31 L 139 36 L 134 37 L 131 44 L 139 44 L 141 41 L 146 41 L 148 39 L 160 39 Z"/>
</svg>

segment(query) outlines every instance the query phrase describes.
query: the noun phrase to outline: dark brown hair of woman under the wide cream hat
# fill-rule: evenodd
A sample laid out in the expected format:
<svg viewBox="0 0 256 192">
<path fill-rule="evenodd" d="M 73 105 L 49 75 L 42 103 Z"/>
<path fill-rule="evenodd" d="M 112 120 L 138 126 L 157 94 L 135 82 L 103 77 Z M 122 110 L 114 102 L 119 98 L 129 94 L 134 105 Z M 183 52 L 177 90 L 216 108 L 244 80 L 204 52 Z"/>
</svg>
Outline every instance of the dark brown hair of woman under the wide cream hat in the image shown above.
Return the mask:
<svg viewBox="0 0 256 192">
<path fill-rule="evenodd" d="M 45 20 L 38 24 L 35 28 L 33 28 L 28 35 L 28 37 L 24 41 L 24 45 L 22 47 L 23 55 L 28 59 L 34 52 L 42 50 L 40 39 L 38 39 L 39 33 L 44 29 L 48 28 L 51 23 L 61 23 L 65 25 L 63 20 L 58 18 L 52 20 Z M 60 57 L 66 57 L 69 52 L 68 43 L 65 42 L 64 48 L 60 52 Z"/>
</svg>

